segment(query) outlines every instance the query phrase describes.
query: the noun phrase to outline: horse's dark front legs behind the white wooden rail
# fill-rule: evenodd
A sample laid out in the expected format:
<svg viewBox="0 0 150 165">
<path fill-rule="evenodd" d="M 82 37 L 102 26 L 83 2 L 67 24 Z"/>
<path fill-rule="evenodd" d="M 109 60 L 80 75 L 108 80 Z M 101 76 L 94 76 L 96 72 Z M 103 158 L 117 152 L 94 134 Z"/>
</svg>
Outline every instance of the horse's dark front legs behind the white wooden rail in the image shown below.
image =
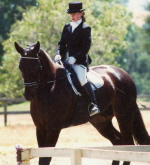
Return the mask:
<svg viewBox="0 0 150 165">
<path fill-rule="evenodd" d="M 58 140 L 60 129 L 36 128 L 36 136 L 39 147 L 55 147 Z M 50 157 L 39 158 L 39 165 L 49 165 Z"/>
</svg>

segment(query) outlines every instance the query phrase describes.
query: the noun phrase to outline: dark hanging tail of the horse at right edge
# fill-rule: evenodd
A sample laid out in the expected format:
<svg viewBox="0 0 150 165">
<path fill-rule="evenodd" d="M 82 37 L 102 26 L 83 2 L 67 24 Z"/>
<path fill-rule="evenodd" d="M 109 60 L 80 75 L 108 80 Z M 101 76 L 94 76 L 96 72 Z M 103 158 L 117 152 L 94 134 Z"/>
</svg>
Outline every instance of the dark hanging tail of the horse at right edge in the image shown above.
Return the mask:
<svg viewBox="0 0 150 165">
<path fill-rule="evenodd" d="M 140 145 L 150 144 L 150 137 L 145 128 L 145 124 L 137 104 L 136 104 L 136 113 L 133 120 L 133 136 L 135 141 Z"/>
</svg>

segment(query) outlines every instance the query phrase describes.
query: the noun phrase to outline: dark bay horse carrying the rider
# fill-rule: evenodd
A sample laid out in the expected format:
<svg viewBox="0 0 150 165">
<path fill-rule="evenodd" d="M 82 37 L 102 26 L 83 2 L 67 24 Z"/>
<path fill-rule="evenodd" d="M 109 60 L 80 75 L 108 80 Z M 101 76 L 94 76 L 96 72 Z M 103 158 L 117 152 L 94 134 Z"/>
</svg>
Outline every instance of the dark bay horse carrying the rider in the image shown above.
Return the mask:
<svg viewBox="0 0 150 165">
<path fill-rule="evenodd" d="M 133 145 L 134 140 L 137 144 L 150 144 L 136 103 L 135 84 L 125 71 L 110 65 L 90 68 L 104 80 L 104 86 L 95 92 L 101 113 L 90 117 L 86 99 L 73 92 L 65 69 L 50 59 L 39 42 L 25 49 L 15 42 L 15 48 L 21 55 L 19 69 L 24 79 L 24 96 L 31 101 L 39 147 L 54 147 L 61 129 L 86 122 L 113 145 Z M 114 116 L 120 132 L 112 124 Z M 50 160 L 40 158 L 39 164 L 48 165 Z M 112 164 L 119 165 L 119 161 Z"/>
</svg>

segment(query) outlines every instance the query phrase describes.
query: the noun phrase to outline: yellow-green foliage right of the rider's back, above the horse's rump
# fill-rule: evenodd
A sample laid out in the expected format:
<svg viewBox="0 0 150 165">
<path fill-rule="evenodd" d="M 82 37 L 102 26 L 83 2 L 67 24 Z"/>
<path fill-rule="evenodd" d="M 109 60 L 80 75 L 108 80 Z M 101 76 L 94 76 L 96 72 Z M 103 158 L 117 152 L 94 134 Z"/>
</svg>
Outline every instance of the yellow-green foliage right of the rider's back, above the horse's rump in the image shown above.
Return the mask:
<svg viewBox="0 0 150 165">
<path fill-rule="evenodd" d="M 97 6 L 101 6 L 99 12 Z M 125 36 L 128 33 L 127 27 L 131 23 L 131 16 L 123 6 L 114 3 L 100 4 L 97 2 L 94 7 L 94 17 L 92 17 L 94 19 L 92 20 L 93 45 L 91 49 L 93 65 L 113 64 L 119 66 L 116 58 L 126 47 Z"/>
</svg>

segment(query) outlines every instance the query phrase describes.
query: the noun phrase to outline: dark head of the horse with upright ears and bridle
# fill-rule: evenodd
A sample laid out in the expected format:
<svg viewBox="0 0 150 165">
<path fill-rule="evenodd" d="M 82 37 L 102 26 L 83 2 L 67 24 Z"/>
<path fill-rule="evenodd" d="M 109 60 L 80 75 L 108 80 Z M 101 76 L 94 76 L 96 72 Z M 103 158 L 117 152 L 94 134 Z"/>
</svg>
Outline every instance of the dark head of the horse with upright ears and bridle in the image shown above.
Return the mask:
<svg viewBox="0 0 150 165">
<path fill-rule="evenodd" d="M 24 96 L 27 100 L 31 101 L 36 94 L 36 89 L 40 83 L 41 62 L 38 57 L 40 52 L 40 42 L 29 45 L 23 49 L 17 42 L 15 48 L 21 55 L 19 69 L 24 79 L 25 93 Z"/>
</svg>

